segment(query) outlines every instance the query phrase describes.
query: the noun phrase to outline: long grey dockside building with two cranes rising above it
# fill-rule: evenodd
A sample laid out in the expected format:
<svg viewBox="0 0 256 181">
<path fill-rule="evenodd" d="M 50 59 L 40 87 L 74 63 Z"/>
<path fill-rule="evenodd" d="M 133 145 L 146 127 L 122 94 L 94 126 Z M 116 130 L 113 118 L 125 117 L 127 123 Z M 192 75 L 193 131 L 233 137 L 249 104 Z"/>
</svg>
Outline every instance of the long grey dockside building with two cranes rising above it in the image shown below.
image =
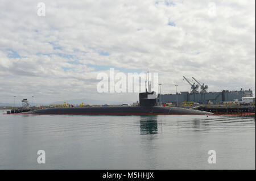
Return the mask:
<svg viewBox="0 0 256 181">
<path fill-rule="evenodd" d="M 229 91 L 222 90 L 221 92 L 208 92 L 208 86 L 199 83 L 195 78 L 193 78 L 198 85 L 191 83 L 187 78 L 183 77 L 185 81 L 191 85 L 191 92 L 185 91 L 176 94 L 163 94 L 159 95 L 159 101 L 162 103 L 177 103 L 181 104 L 183 102 L 196 102 L 199 104 L 208 103 L 221 103 L 221 102 L 241 102 L 243 97 L 253 97 L 253 91 L 249 90 L 239 90 L 239 91 Z M 198 90 L 200 87 L 200 91 Z"/>
</svg>

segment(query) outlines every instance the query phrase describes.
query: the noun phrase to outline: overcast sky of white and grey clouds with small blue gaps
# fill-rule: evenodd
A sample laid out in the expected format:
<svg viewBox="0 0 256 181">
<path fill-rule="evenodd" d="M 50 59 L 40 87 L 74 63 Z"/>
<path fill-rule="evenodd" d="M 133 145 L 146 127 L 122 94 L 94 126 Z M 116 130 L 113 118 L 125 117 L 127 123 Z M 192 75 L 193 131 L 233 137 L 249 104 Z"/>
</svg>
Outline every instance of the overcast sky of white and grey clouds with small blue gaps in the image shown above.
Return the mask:
<svg viewBox="0 0 256 181">
<path fill-rule="evenodd" d="M 39 2 L 0 2 L 0 102 L 138 100 L 97 93 L 110 68 L 159 73 L 162 93 L 189 91 L 183 75 L 255 90 L 255 1 L 42 1 L 45 16 Z"/>
</svg>

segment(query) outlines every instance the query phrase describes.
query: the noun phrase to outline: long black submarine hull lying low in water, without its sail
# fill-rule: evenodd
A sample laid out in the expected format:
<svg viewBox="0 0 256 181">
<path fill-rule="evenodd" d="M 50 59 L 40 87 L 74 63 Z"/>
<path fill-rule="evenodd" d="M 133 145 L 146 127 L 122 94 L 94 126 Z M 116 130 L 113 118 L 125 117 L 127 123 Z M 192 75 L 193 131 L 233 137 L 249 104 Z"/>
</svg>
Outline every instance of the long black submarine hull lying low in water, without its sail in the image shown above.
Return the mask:
<svg viewBox="0 0 256 181">
<path fill-rule="evenodd" d="M 211 115 L 210 112 L 162 106 L 74 107 L 35 110 L 34 114 L 70 115 Z"/>
</svg>

